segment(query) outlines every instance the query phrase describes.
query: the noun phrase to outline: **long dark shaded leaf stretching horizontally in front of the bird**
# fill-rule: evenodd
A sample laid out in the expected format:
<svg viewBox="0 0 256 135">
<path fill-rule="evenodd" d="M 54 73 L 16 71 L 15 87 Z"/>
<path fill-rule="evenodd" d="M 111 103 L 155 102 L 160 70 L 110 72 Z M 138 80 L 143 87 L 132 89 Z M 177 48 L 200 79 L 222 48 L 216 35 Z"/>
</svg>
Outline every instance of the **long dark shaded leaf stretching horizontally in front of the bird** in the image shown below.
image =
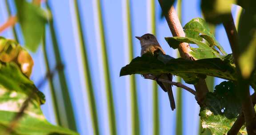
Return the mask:
<svg viewBox="0 0 256 135">
<path fill-rule="evenodd" d="M 122 67 L 120 76 L 160 73 L 171 73 L 180 76 L 186 83 L 190 84 L 195 84 L 199 78 L 205 78 L 204 75 L 236 80 L 234 67 L 226 59 L 212 58 L 192 61 L 182 58 L 173 59 L 163 54 L 153 56 L 152 53 L 146 53 L 133 59 L 130 64 Z"/>
</svg>

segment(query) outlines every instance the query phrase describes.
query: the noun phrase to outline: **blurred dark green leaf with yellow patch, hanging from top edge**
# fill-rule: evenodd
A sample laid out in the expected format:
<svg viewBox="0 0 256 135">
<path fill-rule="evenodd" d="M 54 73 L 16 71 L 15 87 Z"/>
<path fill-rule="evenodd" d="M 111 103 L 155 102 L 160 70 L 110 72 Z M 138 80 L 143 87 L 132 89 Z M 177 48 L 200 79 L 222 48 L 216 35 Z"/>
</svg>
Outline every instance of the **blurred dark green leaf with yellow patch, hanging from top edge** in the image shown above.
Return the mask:
<svg viewBox="0 0 256 135">
<path fill-rule="evenodd" d="M 236 0 L 201 0 L 201 10 L 207 22 L 220 24 L 230 14 Z"/>
</svg>

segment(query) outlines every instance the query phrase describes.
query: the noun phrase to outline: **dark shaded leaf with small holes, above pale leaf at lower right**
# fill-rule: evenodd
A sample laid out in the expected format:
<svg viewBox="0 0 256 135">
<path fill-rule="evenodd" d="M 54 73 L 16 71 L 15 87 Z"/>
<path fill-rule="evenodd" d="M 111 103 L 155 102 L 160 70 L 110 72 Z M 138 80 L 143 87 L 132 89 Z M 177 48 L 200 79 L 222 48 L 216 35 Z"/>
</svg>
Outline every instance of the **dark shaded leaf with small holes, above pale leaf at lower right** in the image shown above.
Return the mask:
<svg viewBox="0 0 256 135">
<path fill-rule="evenodd" d="M 216 85 L 214 92 L 208 92 L 204 104 L 214 115 L 224 115 L 228 119 L 236 118 L 241 112 L 241 103 L 235 93 L 236 85 L 224 81 Z"/>
</svg>

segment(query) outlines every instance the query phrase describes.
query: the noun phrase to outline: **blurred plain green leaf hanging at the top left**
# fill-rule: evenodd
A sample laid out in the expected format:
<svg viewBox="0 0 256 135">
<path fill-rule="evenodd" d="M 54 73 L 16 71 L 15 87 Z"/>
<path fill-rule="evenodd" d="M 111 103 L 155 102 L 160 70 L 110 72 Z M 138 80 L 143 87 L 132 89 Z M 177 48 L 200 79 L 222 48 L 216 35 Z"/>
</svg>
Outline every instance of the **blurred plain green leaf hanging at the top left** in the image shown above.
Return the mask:
<svg viewBox="0 0 256 135">
<path fill-rule="evenodd" d="M 25 47 L 36 52 L 49 17 L 43 9 L 26 0 L 15 0 L 15 3 L 18 21 L 25 39 Z"/>
</svg>

